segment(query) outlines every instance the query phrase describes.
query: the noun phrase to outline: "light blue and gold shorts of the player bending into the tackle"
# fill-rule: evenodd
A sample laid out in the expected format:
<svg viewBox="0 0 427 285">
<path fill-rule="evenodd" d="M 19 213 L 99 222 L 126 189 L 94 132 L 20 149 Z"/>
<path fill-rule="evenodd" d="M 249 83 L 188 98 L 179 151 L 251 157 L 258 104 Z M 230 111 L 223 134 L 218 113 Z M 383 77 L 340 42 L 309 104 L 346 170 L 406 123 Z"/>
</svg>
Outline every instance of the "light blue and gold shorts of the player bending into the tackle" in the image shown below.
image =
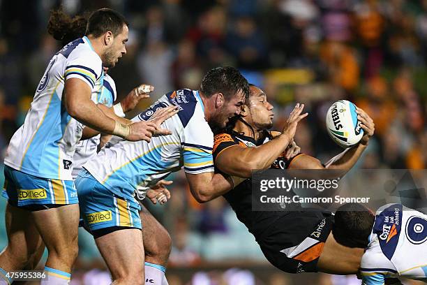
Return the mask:
<svg viewBox="0 0 427 285">
<path fill-rule="evenodd" d="M 141 206 L 135 199 L 121 198 L 100 184 L 83 169 L 75 180 L 79 194 L 80 217 L 91 231 L 111 227 L 142 229 Z"/>
</svg>

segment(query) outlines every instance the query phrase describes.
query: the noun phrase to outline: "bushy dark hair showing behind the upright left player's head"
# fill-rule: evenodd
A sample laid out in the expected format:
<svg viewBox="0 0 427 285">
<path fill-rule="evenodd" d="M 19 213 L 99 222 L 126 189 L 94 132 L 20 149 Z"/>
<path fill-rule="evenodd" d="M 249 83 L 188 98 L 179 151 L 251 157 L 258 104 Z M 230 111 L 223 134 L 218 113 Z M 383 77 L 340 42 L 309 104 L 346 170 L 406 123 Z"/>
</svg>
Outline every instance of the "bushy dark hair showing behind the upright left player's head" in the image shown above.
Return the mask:
<svg viewBox="0 0 427 285">
<path fill-rule="evenodd" d="M 70 17 L 63 12 L 62 8 L 50 11 L 49 22 L 47 22 L 47 32 L 55 40 L 61 41 L 61 45 L 66 45 L 76 38 L 84 36 L 86 31 L 88 15 L 76 15 Z"/>
</svg>

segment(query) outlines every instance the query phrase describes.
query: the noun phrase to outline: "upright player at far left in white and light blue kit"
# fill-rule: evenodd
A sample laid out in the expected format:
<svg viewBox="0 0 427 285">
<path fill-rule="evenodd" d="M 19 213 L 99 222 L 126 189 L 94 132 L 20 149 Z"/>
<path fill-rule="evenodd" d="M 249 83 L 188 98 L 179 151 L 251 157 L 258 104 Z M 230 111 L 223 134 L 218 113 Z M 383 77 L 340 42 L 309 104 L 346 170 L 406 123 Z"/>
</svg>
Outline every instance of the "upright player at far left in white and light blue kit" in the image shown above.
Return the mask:
<svg viewBox="0 0 427 285">
<path fill-rule="evenodd" d="M 103 85 L 102 66 L 113 67 L 128 38 L 126 20 L 111 9 L 96 10 L 87 36 L 52 57 L 24 125 L 10 140 L 5 158 L 8 246 L 0 254 L 1 283 L 25 268 L 40 244 L 48 258 L 42 284 L 66 284 L 77 256 L 79 207 L 73 183 L 73 154 L 83 126 L 128 140 L 147 140 L 169 132 L 158 122 L 130 123 L 91 101 Z M 173 111 L 170 110 L 170 115 Z"/>
</svg>

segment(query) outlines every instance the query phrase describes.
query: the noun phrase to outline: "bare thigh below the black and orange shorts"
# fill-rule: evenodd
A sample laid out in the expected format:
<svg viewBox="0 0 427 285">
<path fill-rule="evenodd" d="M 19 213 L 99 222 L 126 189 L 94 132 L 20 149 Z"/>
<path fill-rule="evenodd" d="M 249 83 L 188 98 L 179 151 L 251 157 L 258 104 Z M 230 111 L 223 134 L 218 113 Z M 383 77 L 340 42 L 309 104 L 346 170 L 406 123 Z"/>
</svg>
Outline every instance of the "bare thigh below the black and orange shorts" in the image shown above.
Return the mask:
<svg viewBox="0 0 427 285">
<path fill-rule="evenodd" d="M 336 275 L 357 274 L 364 249 L 344 247 L 329 233 L 317 263 L 320 272 Z"/>
</svg>

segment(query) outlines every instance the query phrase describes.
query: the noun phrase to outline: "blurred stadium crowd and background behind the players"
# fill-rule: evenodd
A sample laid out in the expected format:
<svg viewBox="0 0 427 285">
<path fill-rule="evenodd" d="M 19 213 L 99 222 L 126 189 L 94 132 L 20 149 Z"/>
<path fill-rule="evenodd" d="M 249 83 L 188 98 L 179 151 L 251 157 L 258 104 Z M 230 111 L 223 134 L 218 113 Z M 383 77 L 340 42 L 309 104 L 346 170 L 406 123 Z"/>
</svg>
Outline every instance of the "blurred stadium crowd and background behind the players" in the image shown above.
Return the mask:
<svg viewBox="0 0 427 285">
<path fill-rule="evenodd" d="M 142 82 L 156 88 L 135 112 L 172 89 L 198 89 L 209 68 L 232 65 L 265 90 L 275 129 L 295 101 L 306 104 L 309 116 L 295 136 L 301 152 L 324 161 L 338 153 L 324 117 L 331 103 L 345 98 L 375 122 L 376 135 L 357 168 L 427 167 L 425 0 L 0 0 L 0 163 L 47 62 L 59 50 L 46 31 L 50 9 L 59 5 L 69 15 L 110 7 L 130 22 L 128 54 L 109 74 L 119 99 Z M 1 170 L 1 184 L 2 175 Z M 222 198 L 200 205 L 190 197 L 183 173 L 170 180 L 171 200 L 148 207 L 172 236 L 171 268 L 231 259 L 264 262 Z M 80 245 L 77 268 L 102 268 L 83 231 Z M 238 272 L 228 273 L 224 279 L 237 278 Z M 240 272 L 239 278 L 249 275 Z"/>
</svg>

